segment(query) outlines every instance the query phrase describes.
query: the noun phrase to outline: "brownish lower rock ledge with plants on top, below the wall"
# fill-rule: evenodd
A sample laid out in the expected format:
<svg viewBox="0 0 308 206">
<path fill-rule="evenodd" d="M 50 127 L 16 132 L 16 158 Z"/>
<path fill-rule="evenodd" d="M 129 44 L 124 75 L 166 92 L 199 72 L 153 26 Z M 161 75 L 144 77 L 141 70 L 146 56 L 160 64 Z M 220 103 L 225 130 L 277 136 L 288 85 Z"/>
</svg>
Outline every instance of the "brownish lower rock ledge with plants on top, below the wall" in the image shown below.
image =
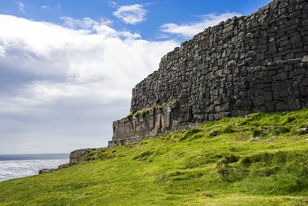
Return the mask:
<svg viewBox="0 0 308 206">
<path fill-rule="evenodd" d="M 180 107 L 178 103 L 169 103 L 164 107 L 149 109 L 144 117 L 132 116 L 130 120 L 125 117 L 113 122 L 113 138 L 112 141 L 108 141 L 108 147 L 182 131 L 185 126 L 190 128 L 201 126 L 201 123 L 198 122 L 187 124 L 186 121 L 179 121 Z"/>
</svg>

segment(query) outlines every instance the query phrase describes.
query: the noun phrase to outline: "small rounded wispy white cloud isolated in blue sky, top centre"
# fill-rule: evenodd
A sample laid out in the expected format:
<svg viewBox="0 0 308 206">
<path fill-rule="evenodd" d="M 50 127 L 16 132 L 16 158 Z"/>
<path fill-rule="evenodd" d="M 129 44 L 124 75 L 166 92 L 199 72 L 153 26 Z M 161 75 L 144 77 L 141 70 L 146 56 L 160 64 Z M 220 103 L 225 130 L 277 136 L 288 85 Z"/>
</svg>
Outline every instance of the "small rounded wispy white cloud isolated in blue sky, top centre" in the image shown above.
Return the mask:
<svg viewBox="0 0 308 206">
<path fill-rule="evenodd" d="M 146 20 L 145 16 L 148 11 L 142 7 L 143 5 L 140 4 L 121 6 L 112 14 L 121 19 L 126 24 L 135 25 Z"/>
</svg>

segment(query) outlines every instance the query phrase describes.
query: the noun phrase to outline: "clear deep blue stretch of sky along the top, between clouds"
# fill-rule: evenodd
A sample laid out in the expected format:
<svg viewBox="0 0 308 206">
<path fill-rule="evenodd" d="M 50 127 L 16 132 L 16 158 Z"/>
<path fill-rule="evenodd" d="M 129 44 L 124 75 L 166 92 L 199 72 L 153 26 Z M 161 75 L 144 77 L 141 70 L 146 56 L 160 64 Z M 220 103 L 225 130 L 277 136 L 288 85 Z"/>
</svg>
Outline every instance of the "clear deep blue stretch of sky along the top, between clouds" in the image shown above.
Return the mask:
<svg viewBox="0 0 308 206">
<path fill-rule="evenodd" d="M 194 24 L 202 22 L 205 15 L 226 13 L 250 15 L 268 0 L 162 0 L 162 1 L 0 1 L 1 14 L 14 15 L 34 21 L 46 21 L 65 25 L 63 17 L 72 19 L 90 18 L 97 22 L 111 21 L 108 25 L 116 31 L 139 33 L 144 40 L 178 38 L 170 32 L 162 32 L 161 26 L 168 23 Z M 137 6 L 138 5 L 138 6 Z M 126 8 L 125 8 L 126 7 Z M 117 15 L 136 12 L 140 19 L 125 21 Z M 80 27 L 75 27 L 80 28 Z M 162 38 L 165 37 L 165 38 Z M 190 39 L 191 36 L 185 36 Z M 188 38 L 190 37 L 190 38 Z M 180 40 L 178 38 L 178 40 Z"/>
</svg>

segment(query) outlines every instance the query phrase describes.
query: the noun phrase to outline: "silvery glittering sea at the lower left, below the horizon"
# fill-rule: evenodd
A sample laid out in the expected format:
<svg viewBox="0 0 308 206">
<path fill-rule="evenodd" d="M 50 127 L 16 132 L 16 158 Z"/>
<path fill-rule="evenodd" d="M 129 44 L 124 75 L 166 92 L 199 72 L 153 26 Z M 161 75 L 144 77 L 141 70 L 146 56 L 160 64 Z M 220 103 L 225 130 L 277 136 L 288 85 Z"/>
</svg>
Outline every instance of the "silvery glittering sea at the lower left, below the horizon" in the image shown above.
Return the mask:
<svg viewBox="0 0 308 206">
<path fill-rule="evenodd" d="M 70 161 L 70 153 L 0 154 L 0 182 L 39 173 L 40 169 L 58 168 Z"/>
</svg>

